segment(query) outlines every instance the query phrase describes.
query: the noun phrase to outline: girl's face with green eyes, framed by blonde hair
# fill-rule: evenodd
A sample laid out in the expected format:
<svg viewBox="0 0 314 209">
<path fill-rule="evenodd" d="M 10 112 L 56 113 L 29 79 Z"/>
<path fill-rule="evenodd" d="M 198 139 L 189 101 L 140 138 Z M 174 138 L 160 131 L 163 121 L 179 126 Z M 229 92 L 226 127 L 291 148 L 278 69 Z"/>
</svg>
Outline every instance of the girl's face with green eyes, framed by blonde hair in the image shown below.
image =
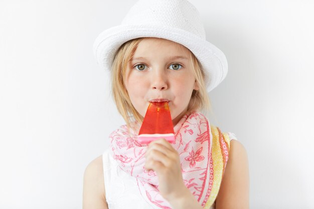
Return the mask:
<svg viewBox="0 0 314 209">
<path fill-rule="evenodd" d="M 141 116 L 150 101 L 169 101 L 173 124 L 186 114 L 193 90 L 198 90 L 189 50 L 165 39 L 144 38 L 127 63 L 124 83 Z"/>
</svg>

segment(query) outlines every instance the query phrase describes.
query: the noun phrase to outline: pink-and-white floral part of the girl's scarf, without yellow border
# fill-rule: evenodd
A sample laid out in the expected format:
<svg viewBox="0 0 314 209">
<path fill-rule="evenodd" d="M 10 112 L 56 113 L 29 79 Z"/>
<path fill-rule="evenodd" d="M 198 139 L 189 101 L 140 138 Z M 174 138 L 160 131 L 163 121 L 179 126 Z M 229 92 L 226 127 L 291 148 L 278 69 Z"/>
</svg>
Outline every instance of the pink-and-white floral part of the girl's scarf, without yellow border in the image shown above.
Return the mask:
<svg viewBox="0 0 314 209">
<path fill-rule="evenodd" d="M 212 189 L 213 164 L 211 159 L 212 135 L 207 118 L 198 112 L 185 115 L 174 127 L 176 142 L 173 147 L 180 155 L 182 176 L 185 185 L 195 198 L 205 205 Z M 140 193 L 154 208 L 171 209 L 171 205 L 160 194 L 158 176 L 147 171 L 144 153 L 146 145 L 131 136 L 126 125 L 110 134 L 110 154 L 119 167 L 137 179 Z"/>
</svg>

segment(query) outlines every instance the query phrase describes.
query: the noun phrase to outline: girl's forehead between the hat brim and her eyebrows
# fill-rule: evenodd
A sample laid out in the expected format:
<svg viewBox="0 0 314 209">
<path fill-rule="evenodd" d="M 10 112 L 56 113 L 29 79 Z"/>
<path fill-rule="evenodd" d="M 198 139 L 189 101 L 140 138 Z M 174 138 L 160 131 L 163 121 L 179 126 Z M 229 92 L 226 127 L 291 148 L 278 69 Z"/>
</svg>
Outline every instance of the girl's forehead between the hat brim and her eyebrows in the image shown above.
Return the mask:
<svg viewBox="0 0 314 209">
<path fill-rule="evenodd" d="M 190 53 L 185 46 L 167 39 L 144 38 L 138 43 L 134 55 L 151 55 L 157 52 L 176 56 L 187 56 Z"/>
</svg>

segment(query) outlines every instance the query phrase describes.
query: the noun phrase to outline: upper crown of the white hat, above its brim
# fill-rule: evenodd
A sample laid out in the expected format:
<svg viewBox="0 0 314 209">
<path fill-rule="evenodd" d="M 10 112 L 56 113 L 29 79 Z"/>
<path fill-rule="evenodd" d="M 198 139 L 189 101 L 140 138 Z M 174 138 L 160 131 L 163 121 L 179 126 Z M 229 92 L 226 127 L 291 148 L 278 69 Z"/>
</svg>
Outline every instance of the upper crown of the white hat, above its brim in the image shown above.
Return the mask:
<svg viewBox="0 0 314 209">
<path fill-rule="evenodd" d="M 205 30 L 197 9 L 186 0 L 139 0 L 121 25 L 155 25 L 177 28 L 205 40 Z"/>
</svg>

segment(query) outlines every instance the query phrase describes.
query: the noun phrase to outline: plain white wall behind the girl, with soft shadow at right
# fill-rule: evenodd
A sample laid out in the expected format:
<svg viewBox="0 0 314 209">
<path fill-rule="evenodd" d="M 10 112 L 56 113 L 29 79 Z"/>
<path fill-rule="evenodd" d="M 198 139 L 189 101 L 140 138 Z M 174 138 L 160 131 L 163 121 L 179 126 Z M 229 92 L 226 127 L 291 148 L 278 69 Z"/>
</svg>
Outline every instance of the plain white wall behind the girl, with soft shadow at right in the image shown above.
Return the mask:
<svg viewBox="0 0 314 209">
<path fill-rule="evenodd" d="M 130 1 L 0 1 L 0 208 L 81 208 L 123 123 L 92 45 Z M 191 0 L 229 73 L 212 124 L 246 147 L 251 208 L 314 208 L 313 1 Z"/>
</svg>

